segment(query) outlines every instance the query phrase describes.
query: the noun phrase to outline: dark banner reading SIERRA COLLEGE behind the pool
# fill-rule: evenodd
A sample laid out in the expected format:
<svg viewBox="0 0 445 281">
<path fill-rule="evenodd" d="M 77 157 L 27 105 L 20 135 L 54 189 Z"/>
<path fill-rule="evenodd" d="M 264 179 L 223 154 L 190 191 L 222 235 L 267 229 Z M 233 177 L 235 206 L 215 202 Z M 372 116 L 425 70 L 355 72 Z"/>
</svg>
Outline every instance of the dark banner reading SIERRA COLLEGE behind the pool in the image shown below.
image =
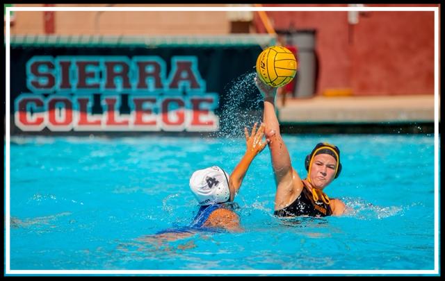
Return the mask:
<svg viewBox="0 0 445 281">
<path fill-rule="evenodd" d="M 233 121 L 224 114 L 259 109 L 250 82 L 259 53 L 253 45 L 11 46 L 11 134 L 218 132 Z"/>
</svg>

